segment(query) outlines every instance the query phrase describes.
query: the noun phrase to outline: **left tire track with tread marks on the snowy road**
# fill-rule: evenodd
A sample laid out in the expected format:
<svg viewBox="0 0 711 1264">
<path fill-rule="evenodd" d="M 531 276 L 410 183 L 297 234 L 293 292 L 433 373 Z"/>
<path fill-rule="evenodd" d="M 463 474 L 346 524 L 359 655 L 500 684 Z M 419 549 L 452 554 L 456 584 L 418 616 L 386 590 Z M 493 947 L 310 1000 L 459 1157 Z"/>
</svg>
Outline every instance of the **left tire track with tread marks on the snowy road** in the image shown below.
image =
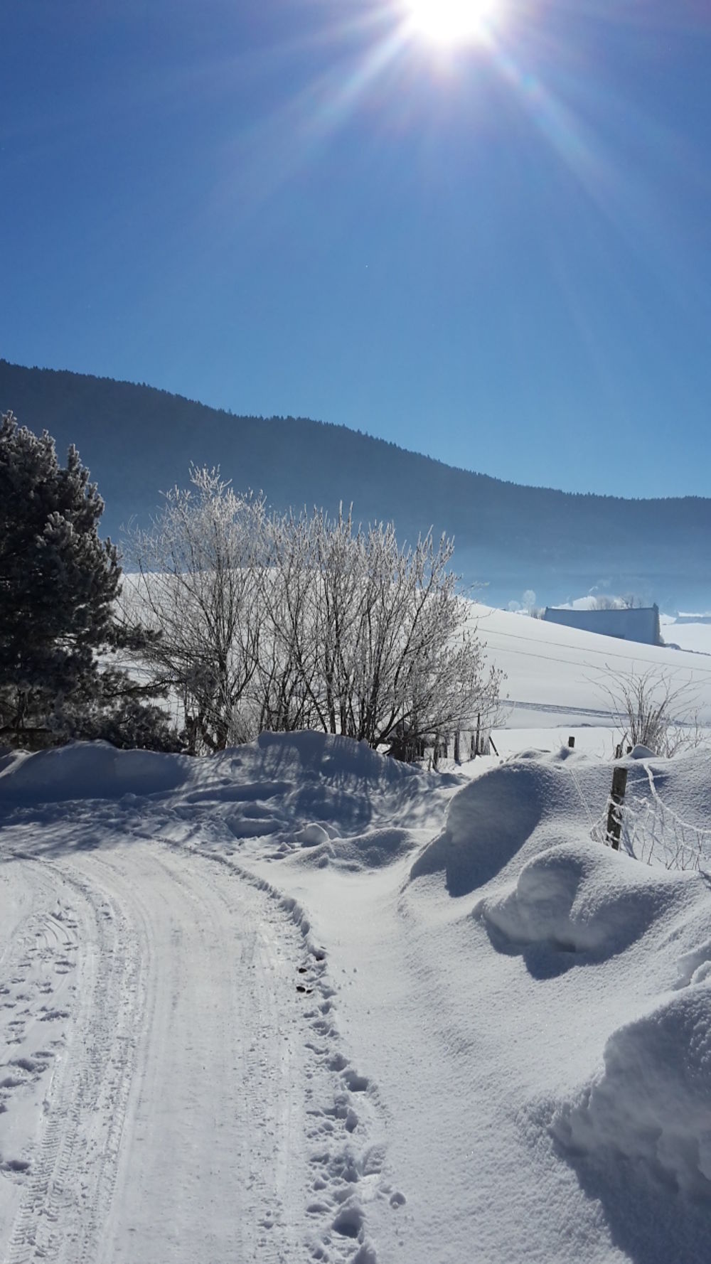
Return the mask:
<svg viewBox="0 0 711 1264">
<path fill-rule="evenodd" d="M 71 905 L 59 901 L 59 916 L 44 916 L 44 934 L 35 930 L 35 956 L 72 982 L 62 988 L 62 1009 L 46 1000 L 34 1015 L 59 1034 L 52 1040 L 57 1054 L 5 1260 L 83 1264 L 110 1201 L 111 1158 L 120 1143 L 139 1020 L 138 957 L 130 953 L 130 928 L 120 910 L 65 863 L 34 862 L 25 870 L 39 897 L 52 899 L 57 886 L 65 900 L 67 892 L 72 896 Z M 56 1001 L 49 981 L 39 991 Z M 32 1058 L 23 1060 L 32 1067 Z"/>
</svg>

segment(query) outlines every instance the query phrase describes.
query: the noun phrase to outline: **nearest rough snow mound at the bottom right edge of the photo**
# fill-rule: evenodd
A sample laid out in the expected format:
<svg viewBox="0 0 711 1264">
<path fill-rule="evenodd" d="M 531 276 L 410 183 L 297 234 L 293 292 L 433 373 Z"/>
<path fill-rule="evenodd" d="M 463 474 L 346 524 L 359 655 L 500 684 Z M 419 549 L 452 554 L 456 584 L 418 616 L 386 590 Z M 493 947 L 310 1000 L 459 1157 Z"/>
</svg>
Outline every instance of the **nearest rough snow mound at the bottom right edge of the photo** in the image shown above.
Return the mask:
<svg viewBox="0 0 711 1264">
<path fill-rule="evenodd" d="M 573 1153 L 636 1160 L 711 1200 L 711 990 L 700 986 L 614 1031 L 605 1071 L 553 1122 Z"/>
</svg>

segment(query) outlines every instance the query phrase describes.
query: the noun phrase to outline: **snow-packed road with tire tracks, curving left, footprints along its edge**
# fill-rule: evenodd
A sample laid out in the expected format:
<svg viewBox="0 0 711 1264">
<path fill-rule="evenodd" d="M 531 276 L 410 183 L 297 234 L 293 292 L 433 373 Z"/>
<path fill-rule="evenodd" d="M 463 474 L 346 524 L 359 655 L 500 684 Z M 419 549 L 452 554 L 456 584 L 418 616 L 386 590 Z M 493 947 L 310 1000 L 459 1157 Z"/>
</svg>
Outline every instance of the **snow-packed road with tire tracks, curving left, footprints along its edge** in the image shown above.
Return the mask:
<svg viewBox="0 0 711 1264">
<path fill-rule="evenodd" d="M 373 1264 L 377 1093 L 294 901 L 125 834 L 0 873 L 4 1264 Z"/>
</svg>

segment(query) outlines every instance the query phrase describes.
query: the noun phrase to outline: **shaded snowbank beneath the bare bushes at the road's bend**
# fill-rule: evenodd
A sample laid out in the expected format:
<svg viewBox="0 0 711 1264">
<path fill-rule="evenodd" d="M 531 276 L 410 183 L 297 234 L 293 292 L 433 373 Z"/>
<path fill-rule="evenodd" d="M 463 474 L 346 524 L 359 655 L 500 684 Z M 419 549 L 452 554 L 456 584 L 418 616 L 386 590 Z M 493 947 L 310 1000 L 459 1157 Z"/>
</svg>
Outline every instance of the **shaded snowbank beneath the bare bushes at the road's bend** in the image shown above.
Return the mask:
<svg viewBox="0 0 711 1264">
<path fill-rule="evenodd" d="M 42 806 L 47 818 L 52 804 L 71 801 L 78 839 L 78 822 L 87 818 L 78 805 L 110 800 L 106 819 L 119 830 L 130 825 L 181 843 L 199 837 L 218 851 L 268 842 L 272 860 L 296 852 L 305 867 L 369 870 L 417 846 L 433 795 L 458 785 L 455 776 L 421 772 L 364 742 L 325 733 L 263 733 L 205 758 L 76 742 L 5 757 L 0 810 Z M 116 815 L 118 808 L 127 815 Z M 96 810 L 86 824 L 92 839 Z"/>
</svg>

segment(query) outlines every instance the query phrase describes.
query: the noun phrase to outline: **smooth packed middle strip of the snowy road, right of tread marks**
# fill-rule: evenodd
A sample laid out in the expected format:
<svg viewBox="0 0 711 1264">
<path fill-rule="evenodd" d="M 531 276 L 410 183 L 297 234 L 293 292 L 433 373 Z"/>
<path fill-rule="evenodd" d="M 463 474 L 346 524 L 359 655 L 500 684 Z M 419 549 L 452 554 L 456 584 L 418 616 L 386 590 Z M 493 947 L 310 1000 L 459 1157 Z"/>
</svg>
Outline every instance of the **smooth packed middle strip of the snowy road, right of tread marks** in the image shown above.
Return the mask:
<svg viewBox="0 0 711 1264">
<path fill-rule="evenodd" d="M 130 1138 L 97 1258 L 278 1259 L 297 1196 L 296 929 L 224 867 L 218 882 L 197 857 L 139 844 L 135 872 L 135 851 L 97 866 L 133 909 L 144 978 Z"/>
</svg>

